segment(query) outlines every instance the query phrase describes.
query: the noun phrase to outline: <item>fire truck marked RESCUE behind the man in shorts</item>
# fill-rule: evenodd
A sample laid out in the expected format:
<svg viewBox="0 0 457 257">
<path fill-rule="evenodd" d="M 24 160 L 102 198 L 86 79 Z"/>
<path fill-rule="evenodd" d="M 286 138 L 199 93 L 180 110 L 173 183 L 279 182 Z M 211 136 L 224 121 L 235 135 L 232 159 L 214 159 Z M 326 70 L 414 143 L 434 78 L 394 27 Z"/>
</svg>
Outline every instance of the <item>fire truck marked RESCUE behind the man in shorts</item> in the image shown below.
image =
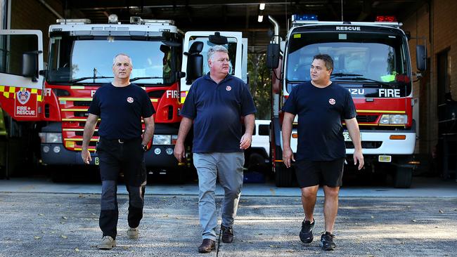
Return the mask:
<svg viewBox="0 0 457 257">
<path fill-rule="evenodd" d="M 323 22 L 315 15 L 292 15 L 285 41 L 275 25 L 267 49 L 267 67 L 272 71 L 271 158 L 276 185 L 295 181 L 293 166 L 282 161 L 281 107 L 294 86 L 311 80 L 313 56 L 326 53 L 334 60 L 331 81 L 351 93 L 356 105 L 366 172 L 392 173 L 395 187 L 410 187 L 418 162 L 414 159 L 416 121 L 413 119 L 413 72 L 409 36 L 392 17 L 376 22 Z M 416 46 L 417 69 L 425 70 L 425 47 Z M 416 73 L 420 77 L 420 73 Z M 344 121 L 343 122 L 343 126 Z M 345 128 L 345 126 L 344 126 Z M 346 128 L 347 165 L 353 166 L 354 145 Z M 290 146 L 297 150 L 297 117 Z M 354 167 L 353 167 L 354 168 Z"/>
</svg>

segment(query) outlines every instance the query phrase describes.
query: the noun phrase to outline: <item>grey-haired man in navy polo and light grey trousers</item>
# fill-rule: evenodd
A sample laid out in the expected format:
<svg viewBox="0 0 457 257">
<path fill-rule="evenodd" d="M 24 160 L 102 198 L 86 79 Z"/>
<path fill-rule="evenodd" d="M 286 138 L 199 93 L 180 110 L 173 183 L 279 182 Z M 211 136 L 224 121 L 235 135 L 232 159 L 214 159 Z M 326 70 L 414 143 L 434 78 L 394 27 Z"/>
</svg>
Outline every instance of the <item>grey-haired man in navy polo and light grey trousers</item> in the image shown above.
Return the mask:
<svg viewBox="0 0 457 257">
<path fill-rule="evenodd" d="M 257 112 L 246 84 L 228 74 L 230 59 L 224 46 L 208 50 L 210 72 L 191 86 L 179 126 L 174 156 L 184 159 L 184 140 L 193 124 L 193 164 L 200 189 L 198 213 L 202 225 L 200 253 L 209 253 L 216 242 L 217 212 L 214 199 L 216 179 L 224 187 L 222 242 L 233 242 L 233 220 L 243 185 L 244 153 L 250 146 Z M 245 133 L 242 135 L 241 117 Z"/>
</svg>

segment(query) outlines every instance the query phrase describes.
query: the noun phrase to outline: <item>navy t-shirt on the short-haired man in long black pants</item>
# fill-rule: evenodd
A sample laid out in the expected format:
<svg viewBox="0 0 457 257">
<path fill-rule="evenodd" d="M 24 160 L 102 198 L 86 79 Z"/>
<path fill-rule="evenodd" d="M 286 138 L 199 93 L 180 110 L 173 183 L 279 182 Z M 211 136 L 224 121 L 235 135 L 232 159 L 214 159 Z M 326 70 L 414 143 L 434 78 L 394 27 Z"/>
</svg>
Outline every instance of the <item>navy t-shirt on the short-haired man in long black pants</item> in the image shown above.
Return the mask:
<svg viewBox="0 0 457 257">
<path fill-rule="evenodd" d="M 141 137 L 141 117 L 151 117 L 155 110 L 143 88 L 109 83 L 97 89 L 88 112 L 101 117 L 99 136 L 129 140 Z"/>
</svg>

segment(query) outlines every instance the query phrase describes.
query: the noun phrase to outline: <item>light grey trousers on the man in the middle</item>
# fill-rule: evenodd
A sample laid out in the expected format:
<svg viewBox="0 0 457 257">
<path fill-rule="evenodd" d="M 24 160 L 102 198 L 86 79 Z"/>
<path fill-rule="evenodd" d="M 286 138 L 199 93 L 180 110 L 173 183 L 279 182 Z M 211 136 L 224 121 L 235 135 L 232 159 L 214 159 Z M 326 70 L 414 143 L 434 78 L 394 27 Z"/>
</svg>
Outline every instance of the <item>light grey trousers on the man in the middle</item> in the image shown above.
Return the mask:
<svg viewBox="0 0 457 257">
<path fill-rule="evenodd" d="M 243 187 L 243 152 L 194 153 L 193 164 L 198 173 L 198 213 L 203 239 L 216 239 L 217 212 L 214 190 L 216 179 L 224 188 L 222 202 L 222 225 L 231 227 L 238 209 Z"/>
</svg>

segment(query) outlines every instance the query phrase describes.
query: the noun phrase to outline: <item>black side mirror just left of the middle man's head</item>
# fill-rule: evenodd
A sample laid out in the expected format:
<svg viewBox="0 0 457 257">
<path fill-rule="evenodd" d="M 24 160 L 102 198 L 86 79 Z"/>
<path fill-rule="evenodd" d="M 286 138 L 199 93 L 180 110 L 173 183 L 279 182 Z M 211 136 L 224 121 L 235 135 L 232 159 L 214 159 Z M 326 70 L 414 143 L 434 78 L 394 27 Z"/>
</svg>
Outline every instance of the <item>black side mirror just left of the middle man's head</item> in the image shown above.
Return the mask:
<svg viewBox="0 0 457 257">
<path fill-rule="evenodd" d="M 202 77 L 203 74 L 203 42 L 195 41 L 189 48 L 187 55 L 187 78 L 186 84 L 191 85 L 195 79 Z"/>
</svg>

